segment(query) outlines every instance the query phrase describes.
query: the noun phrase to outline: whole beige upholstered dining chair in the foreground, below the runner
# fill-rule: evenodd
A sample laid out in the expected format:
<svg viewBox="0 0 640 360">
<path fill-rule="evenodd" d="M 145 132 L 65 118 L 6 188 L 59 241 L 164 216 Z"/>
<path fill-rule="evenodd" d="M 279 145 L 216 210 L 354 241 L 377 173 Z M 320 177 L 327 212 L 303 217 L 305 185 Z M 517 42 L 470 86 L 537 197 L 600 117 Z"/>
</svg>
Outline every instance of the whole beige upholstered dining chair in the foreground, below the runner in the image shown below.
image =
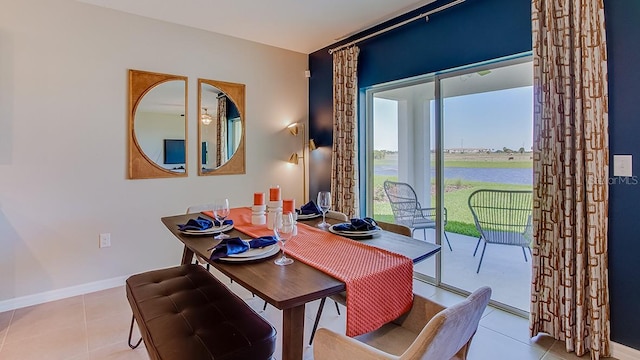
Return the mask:
<svg viewBox="0 0 640 360">
<path fill-rule="evenodd" d="M 318 329 L 313 358 L 466 359 L 490 298 L 491 288 L 486 286 L 448 308 L 414 295 L 407 314 L 373 332 L 350 338 Z"/>
</svg>

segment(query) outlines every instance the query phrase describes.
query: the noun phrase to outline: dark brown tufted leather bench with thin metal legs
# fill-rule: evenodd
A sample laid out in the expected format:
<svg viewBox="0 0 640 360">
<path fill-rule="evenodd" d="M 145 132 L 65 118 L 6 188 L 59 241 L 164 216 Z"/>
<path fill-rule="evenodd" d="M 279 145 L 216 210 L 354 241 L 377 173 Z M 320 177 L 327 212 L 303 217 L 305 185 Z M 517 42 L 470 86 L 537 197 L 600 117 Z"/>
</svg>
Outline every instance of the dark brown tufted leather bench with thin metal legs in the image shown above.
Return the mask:
<svg viewBox="0 0 640 360">
<path fill-rule="evenodd" d="M 200 265 L 127 279 L 127 299 L 151 359 L 270 359 L 276 330 Z"/>
</svg>

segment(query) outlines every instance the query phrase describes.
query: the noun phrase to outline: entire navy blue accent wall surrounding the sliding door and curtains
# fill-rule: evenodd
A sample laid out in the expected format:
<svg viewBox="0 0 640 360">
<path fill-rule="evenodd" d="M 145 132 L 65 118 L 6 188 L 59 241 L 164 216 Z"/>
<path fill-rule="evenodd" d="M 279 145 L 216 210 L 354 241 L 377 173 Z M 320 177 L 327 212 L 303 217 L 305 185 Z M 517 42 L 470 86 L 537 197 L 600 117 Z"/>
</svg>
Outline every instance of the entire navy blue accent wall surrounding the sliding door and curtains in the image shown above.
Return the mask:
<svg viewBox="0 0 640 360">
<path fill-rule="evenodd" d="M 407 13 L 398 23 L 448 1 Z M 640 157 L 634 121 L 640 94 L 640 1 L 605 0 L 609 56 L 610 153 Z M 343 42 L 344 43 L 344 42 Z M 309 158 L 309 195 L 330 188 L 332 58 L 328 49 L 309 54 L 309 137 L 321 146 Z M 359 43 L 359 86 L 432 73 L 531 50 L 531 0 L 467 0 Z M 636 161 L 636 164 L 638 162 Z M 640 169 L 640 164 L 634 166 Z M 636 173 L 639 170 L 636 170 Z M 640 179 L 640 178 L 637 178 Z M 640 183 L 610 188 L 609 281 L 612 340 L 640 349 Z"/>
</svg>

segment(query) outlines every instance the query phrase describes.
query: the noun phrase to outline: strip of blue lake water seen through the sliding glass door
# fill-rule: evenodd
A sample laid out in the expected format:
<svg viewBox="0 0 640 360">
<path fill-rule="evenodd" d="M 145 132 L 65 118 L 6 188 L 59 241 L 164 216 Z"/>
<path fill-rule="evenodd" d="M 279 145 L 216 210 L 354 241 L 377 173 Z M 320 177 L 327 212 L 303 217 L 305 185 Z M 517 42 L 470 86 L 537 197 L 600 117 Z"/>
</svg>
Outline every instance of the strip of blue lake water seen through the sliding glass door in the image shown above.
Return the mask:
<svg viewBox="0 0 640 360">
<path fill-rule="evenodd" d="M 375 175 L 398 175 L 394 166 L 375 166 Z M 435 176 L 435 169 L 431 169 Z M 532 169 L 488 169 L 488 168 L 444 168 L 445 179 L 462 179 L 466 181 L 495 182 L 501 184 L 532 185 Z"/>
</svg>

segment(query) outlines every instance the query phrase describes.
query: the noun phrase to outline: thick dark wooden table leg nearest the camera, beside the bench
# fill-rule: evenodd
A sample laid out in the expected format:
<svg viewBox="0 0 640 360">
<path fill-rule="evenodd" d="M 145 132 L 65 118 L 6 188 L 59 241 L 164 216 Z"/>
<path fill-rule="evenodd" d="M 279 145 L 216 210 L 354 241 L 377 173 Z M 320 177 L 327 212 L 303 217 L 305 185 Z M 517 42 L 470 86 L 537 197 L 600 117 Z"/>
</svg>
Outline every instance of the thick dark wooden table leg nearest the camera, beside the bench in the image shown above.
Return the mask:
<svg viewBox="0 0 640 360">
<path fill-rule="evenodd" d="M 304 304 L 282 311 L 282 360 L 304 355 Z"/>
</svg>

